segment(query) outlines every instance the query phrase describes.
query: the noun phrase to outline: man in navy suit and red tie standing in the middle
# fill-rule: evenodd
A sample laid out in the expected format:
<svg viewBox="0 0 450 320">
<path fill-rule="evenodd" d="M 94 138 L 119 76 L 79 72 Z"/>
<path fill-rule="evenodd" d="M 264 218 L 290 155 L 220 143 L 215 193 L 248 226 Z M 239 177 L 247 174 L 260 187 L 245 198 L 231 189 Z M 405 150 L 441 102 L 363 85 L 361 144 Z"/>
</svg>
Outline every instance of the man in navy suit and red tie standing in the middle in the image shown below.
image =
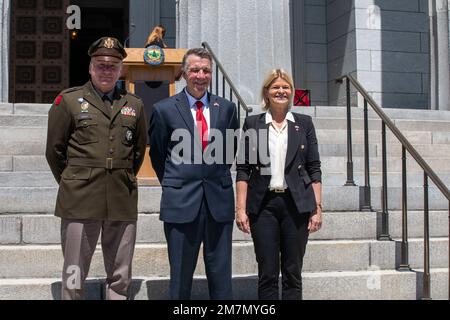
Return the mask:
<svg viewBox="0 0 450 320">
<path fill-rule="evenodd" d="M 190 299 L 203 242 L 210 298 L 231 299 L 234 193 L 231 163 L 223 157 L 231 143 L 226 130 L 239 127 L 236 106 L 207 93 L 212 73 L 207 50 L 188 50 L 182 72 L 186 88 L 153 106 L 149 126 L 150 158 L 162 186 L 160 219 L 168 245 L 170 297 Z M 211 150 L 219 136 L 223 145 Z M 180 143 L 187 146 L 181 152 Z M 223 159 L 205 161 L 214 153 Z"/>
</svg>

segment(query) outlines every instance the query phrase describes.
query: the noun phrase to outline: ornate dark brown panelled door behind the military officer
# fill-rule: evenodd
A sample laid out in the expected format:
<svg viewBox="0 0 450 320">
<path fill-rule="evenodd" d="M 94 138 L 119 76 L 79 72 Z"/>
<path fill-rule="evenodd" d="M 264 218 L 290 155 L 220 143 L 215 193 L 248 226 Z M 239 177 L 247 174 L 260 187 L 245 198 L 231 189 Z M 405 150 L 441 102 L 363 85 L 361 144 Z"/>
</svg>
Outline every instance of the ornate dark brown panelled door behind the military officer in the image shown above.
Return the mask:
<svg viewBox="0 0 450 320">
<path fill-rule="evenodd" d="M 51 103 L 69 86 L 69 3 L 12 1 L 10 102 Z"/>
</svg>

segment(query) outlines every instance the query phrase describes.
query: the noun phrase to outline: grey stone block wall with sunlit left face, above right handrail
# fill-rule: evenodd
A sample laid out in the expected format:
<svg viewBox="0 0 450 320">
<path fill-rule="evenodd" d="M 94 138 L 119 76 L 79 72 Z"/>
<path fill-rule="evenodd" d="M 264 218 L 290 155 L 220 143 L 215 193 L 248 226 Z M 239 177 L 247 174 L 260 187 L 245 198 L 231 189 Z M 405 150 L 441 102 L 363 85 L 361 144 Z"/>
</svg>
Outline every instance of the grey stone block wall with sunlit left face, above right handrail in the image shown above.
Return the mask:
<svg viewBox="0 0 450 320">
<path fill-rule="evenodd" d="M 354 0 L 357 78 L 384 108 L 429 108 L 426 0 Z"/>
</svg>

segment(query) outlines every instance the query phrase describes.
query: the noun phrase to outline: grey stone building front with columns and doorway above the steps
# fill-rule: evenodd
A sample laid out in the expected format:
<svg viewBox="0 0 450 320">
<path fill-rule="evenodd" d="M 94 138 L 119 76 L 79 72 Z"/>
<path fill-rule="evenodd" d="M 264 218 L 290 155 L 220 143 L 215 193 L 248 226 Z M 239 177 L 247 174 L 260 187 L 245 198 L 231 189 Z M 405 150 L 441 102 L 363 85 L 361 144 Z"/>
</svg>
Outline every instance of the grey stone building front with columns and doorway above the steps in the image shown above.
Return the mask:
<svg viewBox="0 0 450 320">
<path fill-rule="evenodd" d="M 18 6 L 58 3 L 63 21 L 70 16 L 65 6 L 81 10 L 77 36 L 71 38 L 64 26 L 59 40 L 52 40 L 70 39 L 61 49 L 71 61 L 61 71 L 60 78 L 68 79 L 64 85 L 84 80 L 87 70 L 79 71 L 79 61 L 93 38 L 108 33 L 142 47 L 162 23 L 171 47 L 207 41 L 249 104 L 259 103 L 267 71 L 280 67 L 294 75 L 296 88 L 311 90 L 314 105 L 342 104 L 344 88 L 335 79 L 352 74 L 382 107 L 450 110 L 448 0 L 0 0 L 1 101 L 23 102 L 11 93 L 18 86 L 17 66 L 24 63 L 11 55 L 17 53 Z M 44 18 L 36 19 L 39 33 Z M 42 76 L 35 78 L 42 86 Z M 47 90 L 50 96 L 55 88 Z"/>
</svg>

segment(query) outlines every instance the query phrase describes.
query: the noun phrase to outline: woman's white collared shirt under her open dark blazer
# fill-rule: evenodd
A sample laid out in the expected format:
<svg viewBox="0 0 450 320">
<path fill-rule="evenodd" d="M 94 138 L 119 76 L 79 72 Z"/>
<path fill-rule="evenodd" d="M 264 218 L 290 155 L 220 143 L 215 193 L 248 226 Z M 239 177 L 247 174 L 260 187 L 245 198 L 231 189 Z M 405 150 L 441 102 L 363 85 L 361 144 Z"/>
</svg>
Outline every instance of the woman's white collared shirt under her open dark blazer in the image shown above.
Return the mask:
<svg viewBox="0 0 450 320">
<path fill-rule="evenodd" d="M 270 189 L 286 189 L 287 183 L 284 177 L 286 153 L 288 143 L 288 121 L 295 122 L 294 115 L 289 111 L 281 128 L 273 124 L 272 113 L 266 112 L 266 124 L 269 126 L 269 155 L 270 155 Z"/>
</svg>

